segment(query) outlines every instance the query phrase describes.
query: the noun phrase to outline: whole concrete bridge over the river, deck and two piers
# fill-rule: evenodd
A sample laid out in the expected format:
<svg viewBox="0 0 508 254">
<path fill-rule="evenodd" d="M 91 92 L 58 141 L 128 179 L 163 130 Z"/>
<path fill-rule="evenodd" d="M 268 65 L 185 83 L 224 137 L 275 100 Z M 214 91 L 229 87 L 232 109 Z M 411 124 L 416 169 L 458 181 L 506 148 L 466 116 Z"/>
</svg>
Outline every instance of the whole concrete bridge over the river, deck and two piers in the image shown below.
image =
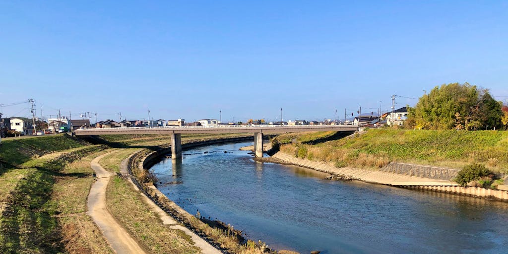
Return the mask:
<svg viewBox="0 0 508 254">
<path fill-rule="evenodd" d="M 182 156 L 181 134 L 206 133 L 253 133 L 256 157 L 263 157 L 263 134 L 294 132 L 355 132 L 358 125 L 232 125 L 232 126 L 164 126 L 164 127 L 129 127 L 75 130 L 76 136 L 89 135 L 126 135 L 126 134 L 168 134 L 171 135 L 171 158 Z"/>
</svg>

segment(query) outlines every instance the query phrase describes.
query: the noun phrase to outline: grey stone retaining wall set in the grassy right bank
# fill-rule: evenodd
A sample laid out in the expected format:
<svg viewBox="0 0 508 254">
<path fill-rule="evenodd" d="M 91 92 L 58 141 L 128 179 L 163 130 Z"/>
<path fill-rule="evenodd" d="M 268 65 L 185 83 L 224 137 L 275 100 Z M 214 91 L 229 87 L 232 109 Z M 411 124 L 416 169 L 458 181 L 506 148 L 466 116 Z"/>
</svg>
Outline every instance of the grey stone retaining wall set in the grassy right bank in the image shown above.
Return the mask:
<svg viewBox="0 0 508 254">
<path fill-rule="evenodd" d="M 399 175 L 417 176 L 447 181 L 453 179 L 459 172 L 458 169 L 439 168 L 397 162 L 388 164 L 387 166 L 380 169 L 380 171 L 395 173 Z"/>
</svg>

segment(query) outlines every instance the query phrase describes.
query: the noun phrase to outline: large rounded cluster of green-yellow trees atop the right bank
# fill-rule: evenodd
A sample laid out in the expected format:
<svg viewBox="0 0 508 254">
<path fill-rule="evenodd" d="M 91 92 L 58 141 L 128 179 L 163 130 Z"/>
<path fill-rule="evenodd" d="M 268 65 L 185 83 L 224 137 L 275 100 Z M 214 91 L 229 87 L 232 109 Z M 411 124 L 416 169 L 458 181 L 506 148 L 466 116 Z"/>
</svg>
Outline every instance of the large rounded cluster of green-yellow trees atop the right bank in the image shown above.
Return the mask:
<svg viewBox="0 0 508 254">
<path fill-rule="evenodd" d="M 430 130 L 486 130 L 502 126 L 501 102 L 468 83 L 436 86 L 408 110 L 409 127 Z"/>
</svg>

